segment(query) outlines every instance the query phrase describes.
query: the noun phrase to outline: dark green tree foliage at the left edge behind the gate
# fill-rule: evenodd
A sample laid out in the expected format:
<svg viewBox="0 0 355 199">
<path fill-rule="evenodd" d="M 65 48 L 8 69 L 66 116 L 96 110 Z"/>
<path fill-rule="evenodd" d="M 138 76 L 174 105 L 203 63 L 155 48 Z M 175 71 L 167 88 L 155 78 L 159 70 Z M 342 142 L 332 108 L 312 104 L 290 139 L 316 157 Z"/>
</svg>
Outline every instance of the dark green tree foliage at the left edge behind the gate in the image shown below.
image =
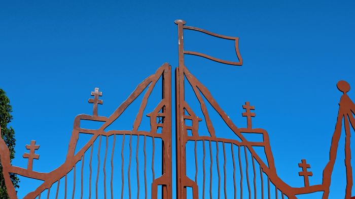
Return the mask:
<svg viewBox="0 0 355 199">
<path fill-rule="evenodd" d="M 6 96 L 6 93 L 3 89 L 0 88 L 0 125 L 1 125 L 1 132 L 2 132 L 2 138 L 4 139 L 5 143 L 9 147 L 10 151 L 10 160 L 14 159 L 15 157 L 15 131 L 12 127 L 8 128 L 8 124 L 11 122 L 12 115 L 10 114 L 12 112 L 12 107 L 10 105 L 10 100 Z M 15 188 L 18 188 L 19 185 L 19 178 L 15 174 L 10 174 L 10 178 L 12 183 L 14 184 Z M 6 191 L 6 186 L 5 186 L 5 180 L 3 176 L 3 167 L 0 164 L 0 198 L 9 198 L 7 191 Z"/>
</svg>

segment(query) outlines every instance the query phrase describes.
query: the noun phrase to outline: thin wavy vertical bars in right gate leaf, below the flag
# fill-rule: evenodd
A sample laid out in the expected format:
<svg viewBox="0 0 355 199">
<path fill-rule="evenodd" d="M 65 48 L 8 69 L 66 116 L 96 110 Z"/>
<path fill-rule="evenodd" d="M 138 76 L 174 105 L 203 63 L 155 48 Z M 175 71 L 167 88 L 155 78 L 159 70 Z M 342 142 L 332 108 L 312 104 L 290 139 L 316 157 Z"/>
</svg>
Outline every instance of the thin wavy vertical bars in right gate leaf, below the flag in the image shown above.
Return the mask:
<svg viewBox="0 0 355 199">
<path fill-rule="evenodd" d="M 194 142 L 194 143 L 193 143 Z M 202 148 L 203 148 L 203 154 L 197 153 L 197 148 L 198 142 L 202 142 Z M 212 144 L 212 143 L 215 144 Z M 226 146 L 228 144 L 228 146 Z M 230 146 L 229 146 L 230 145 Z M 192 149 L 191 147 L 194 147 L 194 161 L 192 161 L 191 158 L 188 158 L 188 156 L 191 157 L 191 152 L 190 150 Z M 222 148 L 221 148 L 222 146 Z M 237 151 L 235 150 L 236 147 L 238 148 Z M 258 161 L 255 159 L 255 157 L 251 154 L 251 152 L 248 150 L 248 148 L 244 145 L 236 145 L 233 143 L 229 142 L 223 142 L 223 141 L 211 141 L 211 140 L 190 140 L 188 141 L 186 145 L 186 156 L 187 156 L 187 162 L 189 162 L 189 165 L 191 166 L 191 163 L 194 162 L 195 164 L 195 172 L 194 172 L 194 177 L 192 175 L 188 175 L 191 179 L 194 178 L 194 181 L 197 183 L 197 185 L 200 187 L 202 185 L 202 194 L 199 194 L 199 198 L 206 198 L 205 193 L 209 191 L 209 198 L 276 198 L 276 199 L 284 199 L 288 198 L 287 195 L 285 195 L 281 190 L 279 190 L 275 184 L 272 183 L 270 180 L 269 176 L 263 171 L 263 168 L 260 166 Z M 212 147 L 215 147 L 214 150 L 216 150 L 216 153 L 212 152 Z M 209 148 L 209 157 L 206 156 L 206 148 Z M 243 149 L 243 150 L 241 150 Z M 226 156 L 226 151 L 229 150 L 231 157 Z M 221 155 L 220 151 L 223 151 L 223 156 Z M 244 151 L 241 152 L 241 151 Z M 251 158 L 248 157 L 248 154 L 251 154 Z M 235 157 L 237 155 L 237 158 Z M 223 168 L 220 167 L 220 158 L 224 158 L 223 160 Z M 202 182 L 198 181 L 198 159 L 202 158 Z M 206 162 L 209 159 L 209 174 L 206 173 Z M 227 169 L 226 168 L 226 160 L 231 160 L 233 164 L 233 187 L 234 187 L 234 195 L 230 196 L 227 195 Z M 216 162 L 214 162 L 216 161 Z M 237 168 L 237 163 L 239 165 L 239 168 Z M 216 170 L 213 171 L 213 166 L 216 164 L 215 168 Z M 258 167 L 259 165 L 259 167 Z M 201 170 L 201 169 L 200 169 Z M 238 172 L 239 170 L 239 172 Z M 189 170 L 187 170 L 189 172 Z M 191 174 L 191 172 L 190 172 Z M 252 175 L 251 175 L 252 174 Z M 208 176 L 206 176 L 208 175 Z M 216 176 L 214 176 L 216 175 Z M 221 175 L 223 175 L 223 182 L 221 182 Z M 239 175 L 240 181 L 237 182 L 236 176 Z M 257 183 L 257 176 L 260 178 L 260 184 Z M 260 177 L 259 177 L 260 176 Z M 215 178 L 218 178 L 215 179 Z M 209 179 L 209 190 L 206 190 L 206 181 Z M 212 181 L 215 182 L 218 181 L 218 185 L 214 186 L 212 185 Z M 265 182 L 264 182 L 265 180 Z M 245 184 L 246 181 L 246 184 Z M 224 194 L 221 195 L 221 184 L 223 183 L 223 188 L 224 188 Z M 230 183 L 230 181 L 228 181 Z M 264 186 L 266 186 L 267 183 L 267 190 L 264 191 Z M 273 185 L 275 187 L 274 190 L 271 190 L 270 185 Z M 239 192 L 237 192 L 237 186 L 239 186 Z M 252 190 L 253 187 L 254 189 Z M 259 189 L 257 188 L 259 187 Z M 216 190 L 217 189 L 217 190 Z M 244 192 L 243 192 L 244 190 Z M 245 192 L 245 190 L 247 190 Z M 198 191 L 198 190 L 192 190 L 192 191 Z M 213 195 L 213 192 L 218 192 L 217 197 L 216 194 Z M 274 194 L 272 193 L 274 191 Z M 280 194 L 280 196 L 279 196 Z M 228 197 L 227 197 L 228 196 Z M 192 198 L 187 196 L 187 198 Z"/>
</svg>

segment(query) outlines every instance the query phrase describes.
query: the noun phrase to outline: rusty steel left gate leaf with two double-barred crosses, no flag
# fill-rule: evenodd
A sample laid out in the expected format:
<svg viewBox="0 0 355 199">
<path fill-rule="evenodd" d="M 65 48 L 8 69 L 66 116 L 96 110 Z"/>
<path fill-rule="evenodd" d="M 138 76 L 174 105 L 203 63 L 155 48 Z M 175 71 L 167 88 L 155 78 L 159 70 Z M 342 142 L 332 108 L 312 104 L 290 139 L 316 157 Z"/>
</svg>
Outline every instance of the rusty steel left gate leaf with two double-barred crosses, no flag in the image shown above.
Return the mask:
<svg viewBox="0 0 355 199">
<path fill-rule="evenodd" d="M 150 124 L 151 124 L 151 130 L 150 131 L 142 131 L 138 130 L 138 127 L 140 126 L 141 123 L 141 117 L 143 117 L 143 112 L 146 109 L 147 106 L 147 101 L 148 97 L 150 96 L 153 87 L 156 85 L 157 81 L 162 78 L 162 97 L 161 100 L 158 102 L 157 107 L 152 110 L 151 113 L 149 113 L 147 116 L 150 118 Z M 118 109 L 110 116 L 110 117 L 103 117 L 103 116 L 98 116 L 97 115 L 97 104 L 102 104 L 102 100 L 98 99 L 98 96 L 102 95 L 102 92 L 99 92 L 98 88 L 95 88 L 95 91 L 91 92 L 91 95 L 94 96 L 93 99 L 89 99 L 89 103 L 93 103 L 93 115 L 78 115 L 75 118 L 74 121 L 74 127 L 73 127 L 73 132 L 72 132 L 72 137 L 70 138 L 70 143 L 68 146 L 68 152 L 66 156 L 65 162 L 59 166 L 57 169 L 49 172 L 49 173 L 40 173 L 37 171 L 32 171 L 32 163 L 33 159 L 39 159 L 39 155 L 34 154 L 34 150 L 38 150 L 39 145 L 35 145 L 35 141 L 32 140 L 30 145 L 26 145 L 26 148 L 29 151 L 29 153 L 25 153 L 23 155 L 23 158 L 28 158 L 28 167 L 27 169 L 19 168 L 12 166 L 10 164 L 10 156 L 9 156 L 9 150 L 8 147 L 6 146 L 5 142 L 3 139 L 0 139 L 0 157 L 1 157 L 1 163 L 3 166 L 3 174 L 5 177 L 5 182 L 7 186 L 7 190 L 9 193 L 10 198 L 17 198 L 16 191 L 11 183 L 9 174 L 10 173 L 16 173 L 24 177 L 28 178 L 34 178 L 34 179 L 40 179 L 43 180 L 43 183 L 34 191 L 29 192 L 24 198 L 36 198 L 36 197 L 49 197 L 50 192 L 55 192 L 55 197 L 58 197 L 58 192 L 59 192 L 59 187 L 64 187 L 64 198 L 66 197 L 72 197 L 75 198 L 76 192 L 80 193 L 80 198 L 83 198 L 83 194 L 85 191 L 88 191 L 87 195 L 88 197 L 95 197 L 95 198 L 107 198 L 107 193 L 111 195 L 111 198 L 124 198 L 123 191 L 121 195 L 114 195 L 114 189 L 117 189 L 118 187 L 113 184 L 113 178 L 115 177 L 115 174 L 117 173 L 114 171 L 114 148 L 115 148 L 115 140 L 117 136 L 122 136 L 123 135 L 123 141 L 122 141 L 122 168 L 125 163 L 128 162 L 128 172 L 124 172 L 124 169 L 122 169 L 122 190 L 124 186 L 127 186 L 128 184 L 128 191 L 129 191 L 129 197 L 131 197 L 131 186 L 135 186 L 135 190 L 137 191 L 137 198 L 139 198 L 139 172 L 143 173 L 143 171 L 138 170 L 138 165 L 139 164 L 144 164 L 144 175 L 145 175 L 145 198 L 157 198 L 158 197 L 158 186 L 161 185 L 163 189 L 163 198 L 171 198 L 172 195 L 172 187 L 171 187 L 171 67 L 168 64 L 162 65 L 155 74 L 149 76 L 147 79 L 145 79 L 142 83 L 140 83 L 137 88 L 132 92 L 132 94 L 127 98 L 127 100 L 122 103 L 121 106 L 118 107 Z M 143 93 L 143 91 L 147 88 L 147 91 Z M 132 130 L 105 130 L 107 127 L 109 127 L 116 119 L 118 119 L 121 114 L 124 112 L 124 110 L 136 99 L 136 97 L 139 94 L 144 94 L 144 98 L 140 103 L 140 108 L 138 110 L 138 114 L 134 120 L 134 125 Z M 159 120 L 159 123 L 157 123 L 157 118 L 162 118 Z M 80 121 L 82 120 L 91 120 L 91 121 L 100 121 L 104 122 L 102 126 L 98 129 L 86 129 L 82 128 L 80 126 Z M 157 133 L 157 129 L 161 128 L 161 132 Z M 79 138 L 80 133 L 86 133 L 86 134 L 91 134 L 92 137 L 90 140 L 85 143 L 85 145 L 82 148 L 79 148 L 79 151 L 75 153 L 75 148 L 77 147 L 77 142 Z M 129 136 L 129 140 L 124 140 L 126 136 Z M 109 145 L 109 137 L 113 137 L 113 146 L 112 146 L 112 152 L 111 156 L 108 156 L 108 145 Z M 132 171 L 131 170 L 131 162 L 132 160 L 132 153 L 133 153 L 133 141 L 132 137 L 136 136 L 136 147 L 135 147 L 135 161 L 137 165 L 137 169 Z M 146 155 L 146 147 L 154 147 L 154 141 L 152 146 L 146 146 L 144 145 L 144 163 L 140 163 L 143 160 L 140 160 L 138 158 L 138 145 L 139 145 L 139 137 L 143 138 L 144 143 L 146 143 L 147 138 L 159 138 L 162 140 L 162 149 L 161 152 L 163 153 L 162 156 L 162 175 L 155 176 L 153 178 L 153 181 L 151 182 L 151 187 L 152 190 L 150 191 L 151 195 L 147 195 L 147 178 L 146 178 L 146 169 L 149 169 L 149 167 L 146 164 L 146 159 L 148 158 Z M 95 140 L 98 141 L 98 150 L 97 154 L 93 153 L 93 148 L 94 148 L 94 143 Z M 96 143 L 97 143 L 96 141 Z M 124 160 L 123 157 L 123 150 L 124 150 L 124 143 L 125 141 L 129 142 L 129 159 Z M 104 148 L 102 147 L 102 150 L 104 150 L 104 156 L 101 157 L 100 155 L 100 145 L 102 143 L 105 143 Z M 85 153 L 88 152 L 88 153 Z M 154 153 L 154 152 L 153 152 Z M 89 157 L 86 157 L 89 155 Z M 133 156 L 134 156 L 133 155 Z M 94 170 L 94 164 L 91 164 L 93 159 L 97 159 L 97 170 Z M 111 159 L 111 160 L 109 160 Z M 84 161 L 89 162 L 89 175 L 85 176 L 83 172 L 84 168 Z M 108 163 L 110 161 L 110 163 Z M 127 162 L 126 162 L 127 161 Z M 154 155 L 152 157 L 152 169 L 154 172 Z M 103 163 L 102 163 L 103 162 Z M 80 163 L 80 164 L 79 164 Z M 79 164 L 79 165 L 78 165 Z M 107 175 L 107 164 L 111 164 L 111 176 Z M 125 164 L 126 165 L 126 164 Z M 101 167 L 102 168 L 101 168 Z M 140 167 L 141 168 L 141 167 Z M 73 172 L 73 179 L 69 179 L 68 173 Z M 80 173 L 80 175 L 77 175 L 77 173 Z M 130 173 L 136 172 L 137 178 L 136 180 L 131 179 Z M 103 181 L 100 180 L 99 176 L 102 176 L 103 173 Z M 93 178 L 92 176 L 96 175 L 96 178 Z M 117 176 L 117 175 L 116 175 Z M 76 183 L 76 177 L 81 178 L 79 183 Z M 128 178 L 128 182 L 125 182 L 124 179 Z M 106 183 L 106 179 L 110 178 L 110 183 Z M 73 183 L 70 183 L 69 185 L 69 180 L 73 180 Z M 93 181 L 94 180 L 94 181 Z M 56 186 L 53 186 L 53 184 L 56 183 Z M 78 187 L 76 185 L 80 184 L 81 187 Z M 88 189 L 83 189 L 84 184 L 88 184 L 89 188 Z M 100 192 L 98 191 L 98 186 L 103 185 L 103 191 Z M 92 189 L 94 188 L 94 189 Z M 46 195 L 44 196 L 44 191 L 48 190 Z M 67 192 L 72 192 L 72 194 L 67 194 Z M 42 194 L 41 194 L 42 193 Z"/>
</svg>

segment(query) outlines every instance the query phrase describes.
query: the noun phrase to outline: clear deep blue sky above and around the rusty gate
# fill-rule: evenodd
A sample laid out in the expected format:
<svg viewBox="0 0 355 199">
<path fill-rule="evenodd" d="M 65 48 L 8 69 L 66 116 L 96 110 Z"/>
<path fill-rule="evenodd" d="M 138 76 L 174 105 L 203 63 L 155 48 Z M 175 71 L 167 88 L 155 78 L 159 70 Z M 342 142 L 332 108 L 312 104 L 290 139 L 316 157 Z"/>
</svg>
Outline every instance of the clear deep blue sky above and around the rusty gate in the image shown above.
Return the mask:
<svg viewBox="0 0 355 199">
<path fill-rule="evenodd" d="M 253 126 L 268 131 L 284 181 L 303 186 L 298 163 L 307 159 L 310 184 L 320 183 L 341 96 L 336 83 L 346 80 L 355 88 L 354 9 L 354 1 L 3 1 L 0 87 L 13 107 L 13 164 L 26 167 L 25 144 L 35 139 L 41 147 L 33 169 L 57 168 L 65 160 L 74 117 L 92 113 L 87 100 L 94 87 L 103 92 L 99 113 L 109 116 L 163 63 L 174 70 L 174 20 L 184 19 L 240 37 L 243 66 L 186 56 L 187 67 L 236 126 L 246 126 L 244 102 L 255 106 Z M 185 43 L 185 49 L 234 58 L 227 41 L 186 33 Z M 353 90 L 349 96 L 355 100 Z M 344 138 L 331 198 L 343 197 L 345 190 Z M 21 178 L 19 197 L 30 190 L 28 182 Z"/>
</svg>

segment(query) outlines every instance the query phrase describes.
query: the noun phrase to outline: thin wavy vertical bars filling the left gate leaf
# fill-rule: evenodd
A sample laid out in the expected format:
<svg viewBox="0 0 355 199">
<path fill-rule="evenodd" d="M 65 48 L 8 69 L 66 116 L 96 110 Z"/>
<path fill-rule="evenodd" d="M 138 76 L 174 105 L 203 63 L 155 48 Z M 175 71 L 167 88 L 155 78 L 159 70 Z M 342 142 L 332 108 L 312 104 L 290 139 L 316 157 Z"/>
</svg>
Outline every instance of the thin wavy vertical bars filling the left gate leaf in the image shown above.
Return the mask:
<svg viewBox="0 0 355 199">
<path fill-rule="evenodd" d="M 38 199 L 40 199 L 41 197 L 42 198 L 53 198 L 53 197 L 50 197 L 51 195 L 51 192 L 55 192 L 55 198 L 78 198 L 78 196 L 76 195 L 76 191 L 80 191 L 80 198 L 82 199 L 83 198 L 83 195 L 84 195 L 84 191 L 88 191 L 88 198 L 100 198 L 102 197 L 102 194 L 103 194 L 103 198 L 107 198 L 107 192 L 110 191 L 111 192 L 111 198 L 126 198 L 126 195 L 124 194 L 124 187 L 125 187 L 125 183 L 127 183 L 126 186 L 128 186 L 128 196 L 129 198 L 132 198 L 131 197 L 131 186 L 136 186 L 136 190 L 137 190 L 137 198 L 151 198 L 150 195 L 148 195 L 151 191 L 150 190 L 147 190 L 147 184 L 148 183 L 152 183 L 152 182 L 147 182 L 147 152 L 146 152 L 146 148 L 147 148 L 147 136 L 146 135 L 132 135 L 132 134 L 123 134 L 123 135 L 112 135 L 113 136 L 113 145 L 112 145 L 112 149 L 111 149 L 111 160 L 110 160 L 110 163 L 108 164 L 111 164 L 111 183 L 110 183 L 110 187 L 108 187 L 107 185 L 107 171 L 106 171 L 106 164 L 107 164 L 107 159 L 108 159 L 108 150 L 109 150 L 109 137 L 108 136 L 102 136 L 102 135 L 99 135 L 98 138 L 96 138 L 96 141 L 98 140 L 98 148 L 97 148 L 97 170 L 96 170 L 96 179 L 94 179 L 95 181 L 93 182 L 92 181 L 92 174 L 93 172 L 93 165 L 92 165 L 92 161 L 93 159 L 95 158 L 95 155 L 93 154 L 93 151 L 94 151 L 94 144 L 95 142 L 88 148 L 88 150 L 86 151 L 86 153 L 84 153 L 84 155 L 81 157 L 81 160 L 73 167 L 72 170 L 70 170 L 66 175 L 64 175 L 61 179 L 58 179 L 56 182 L 54 182 L 52 184 L 52 186 L 46 190 L 44 190 L 40 195 L 38 195 Z M 121 195 L 119 196 L 114 196 L 114 190 L 117 189 L 118 187 L 117 186 L 114 186 L 113 184 L 113 181 L 114 181 L 114 152 L 115 152 L 115 145 L 116 145 L 116 136 L 122 136 L 122 146 L 121 146 L 121 154 L 120 154 L 120 157 L 121 157 Z M 127 140 L 126 136 L 128 137 L 129 136 L 129 140 Z M 135 136 L 136 137 L 136 145 L 135 146 L 132 146 L 132 137 Z M 140 187 L 139 187 L 139 155 L 138 155 L 138 152 L 139 152 L 139 137 L 143 138 L 143 154 L 144 154 L 144 185 L 145 185 L 145 196 L 144 197 L 141 197 L 141 195 L 139 195 L 139 192 L 140 192 Z M 155 145 L 156 145 L 156 141 L 155 139 L 159 139 L 159 141 L 161 141 L 160 138 L 155 138 L 155 137 L 150 137 L 148 136 L 149 138 L 151 138 L 152 140 L 152 145 L 149 146 L 149 147 L 152 147 L 152 167 L 151 168 L 148 168 L 148 169 L 151 169 L 151 172 L 152 172 L 152 180 L 156 179 L 156 169 L 155 166 L 154 166 L 154 162 L 155 162 Z M 100 157 L 100 150 L 101 150 L 101 142 L 103 141 L 102 139 L 105 139 L 105 142 L 106 142 L 106 145 L 105 145 L 105 152 L 104 152 L 104 157 L 103 157 L 103 165 L 102 165 L 102 168 L 100 168 L 100 161 L 102 161 L 102 157 Z M 129 141 L 129 159 L 126 160 L 125 159 L 125 142 Z M 136 179 L 131 179 L 131 162 L 132 162 L 132 148 L 135 148 L 135 161 L 136 161 Z M 160 155 L 160 154 L 158 154 Z M 89 157 L 87 157 L 89 156 Z M 89 177 L 88 179 L 85 179 L 85 174 L 84 174 L 84 165 L 86 163 L 86 161 L 89 161 Z M 81 163 L 80 163 L 81 162 Z M 162 161 L 163 162 L 163 161 Z M 79 164 L 80 163 L 80 164 Z M 128 182 L 125 182 L 125 173 L 124 173 L 124 166 L 125 164 L 128 163 L 128 171 L 127 171 L 127 179 L 128 179 Z M 79 168 L 77 168 L 79 167 Z M 81 187 L 76 187 L 78 185 L 77 183 L 77 170 L 80 169 L 80 185 Z M 103 193 L 100 193 L 98 192 L 98 185 L 99 184 L 102 184 L 102 182 L 99 182 L 99 175 L 100 175 L 100 170 L 102 170 L 103 172 Z M 70 184 L 72 186 L 68 186 L 68 174 L 70 172 L 73 172 L 73 183 Z M 159 177 L 159 176 L 158 176 Z M 133 183 L 132 180 L 136 181 L 136 183 Z M 88 182 L 87 182 L 88 181 Z M 88 183 L 88 190 L 85 190 L 83 187 L 84 187 L 84 184 L 85 183 Z M 64 186 L 64 193 L 60 193 L 60 190 L 59 190 L 59 187 L 60 186 Z M 92 187 L 95 186 L 95 193 L 92 193 Z M 72 189 L 72 194 L 71 195 L 68 195 L 67 194 L 67 191 L 69 189 Z M 80 189 L 80 190 L 78 190 Z M 60 195 L 63 195 L 62 197 Z"/>
</svg>

